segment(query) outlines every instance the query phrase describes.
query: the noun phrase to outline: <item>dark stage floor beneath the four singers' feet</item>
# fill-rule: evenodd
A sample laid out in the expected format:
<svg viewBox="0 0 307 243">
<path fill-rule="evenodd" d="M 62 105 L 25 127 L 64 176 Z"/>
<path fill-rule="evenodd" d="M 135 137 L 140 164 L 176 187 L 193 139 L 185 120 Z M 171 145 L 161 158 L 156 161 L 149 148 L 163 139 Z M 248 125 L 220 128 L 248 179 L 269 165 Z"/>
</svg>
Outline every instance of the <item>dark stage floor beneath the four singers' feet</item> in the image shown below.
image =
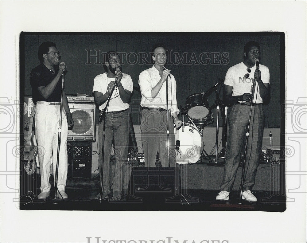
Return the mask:
<svg viewBox="0 0 307 243">
<path fill-rule="evenodd" d="M 204 165 L 206 166 L 206 165 Z M 40 178 L 36 180 L 36 195 L 39 194 Z M 68 178 L 66 193 L 68 199 L 60 200 L 54 198 L 53 177 L 50 176 L 52 189 L 50 196 L 46 200 L 39 200 L 37 197 L 31 201 L 27 196 L 22 196 L 20 200 L 21 210 L 114 210 L 114 211 L 221 211 L 221 210 L 247 210 L 247 211 L 270 211 L 283 212 L 286 210 L 286 197 L 279 191 L 253 190 L 258 202 L 239 204 L 239 191 L 234 190 L 228 201 L 215 200 L 219 190 L 184 189 L 181 194 L 169 202 L 165 198 L 157 197 L 145 198 L 143 202 L 127 200 L 96 200 L 99 194 L 99 177 L 92 175 L 92 178 Z M 112 196 L 112 192 L 110 197 Z M 31 195 L 33 198 L 33 195 Z"/>
</svg>

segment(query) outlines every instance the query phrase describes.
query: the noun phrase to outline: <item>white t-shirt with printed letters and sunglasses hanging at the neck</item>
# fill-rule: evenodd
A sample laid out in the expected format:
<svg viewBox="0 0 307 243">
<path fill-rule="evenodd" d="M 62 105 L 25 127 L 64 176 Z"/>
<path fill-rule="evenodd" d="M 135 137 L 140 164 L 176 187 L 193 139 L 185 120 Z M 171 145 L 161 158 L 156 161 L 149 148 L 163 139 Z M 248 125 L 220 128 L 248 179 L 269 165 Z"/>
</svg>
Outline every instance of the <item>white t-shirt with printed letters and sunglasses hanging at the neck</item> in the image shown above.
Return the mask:
<svg viewBox="0 0 307 243">
<path fill-rule="evenodd" d="M 247 66 L 243 62 L 232 66 L 228 69 L 224 84 L 232 86 L 232 96 L 243 95 L 244 93 L 252 93 L 251 88 L 254 82 L 254 73 L 256 70 L 256 65 L 251 68 L 251 73 L 248 78 L 244 75 L 247 73 Z M 259 64 L 259 70 L 261 72 L 261 80 L 264 84 L 270 84 L 270 72 L 269 69 Z M 258 92 L 257 92 L 258 90 Z M 257 93 L 257 96 L 256 96 Z M 239 101 L 242 102 L 242 101 Z M 244 101 L 245 102 L 245 101 Z M 259 93 L 258 83 L 256 82 L 255 96 L 253 103 L 262 103 L 262 98 Z"/>
</svg>

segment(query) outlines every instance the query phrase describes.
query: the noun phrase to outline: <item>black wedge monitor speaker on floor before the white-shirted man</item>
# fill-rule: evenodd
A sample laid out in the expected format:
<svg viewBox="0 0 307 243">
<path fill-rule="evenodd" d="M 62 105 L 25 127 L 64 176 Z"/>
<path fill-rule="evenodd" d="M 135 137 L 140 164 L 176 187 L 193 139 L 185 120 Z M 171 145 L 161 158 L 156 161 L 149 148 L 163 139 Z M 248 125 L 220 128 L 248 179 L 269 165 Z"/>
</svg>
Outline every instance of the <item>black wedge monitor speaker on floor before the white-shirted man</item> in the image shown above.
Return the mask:
<svg viewBox="0 0 307 243">
<path fill-rule="evenodd" d="M 181 192 L 178 167 L 134 167 L 128 186 L 128 201 L 177 202 Z"/>
</svg>

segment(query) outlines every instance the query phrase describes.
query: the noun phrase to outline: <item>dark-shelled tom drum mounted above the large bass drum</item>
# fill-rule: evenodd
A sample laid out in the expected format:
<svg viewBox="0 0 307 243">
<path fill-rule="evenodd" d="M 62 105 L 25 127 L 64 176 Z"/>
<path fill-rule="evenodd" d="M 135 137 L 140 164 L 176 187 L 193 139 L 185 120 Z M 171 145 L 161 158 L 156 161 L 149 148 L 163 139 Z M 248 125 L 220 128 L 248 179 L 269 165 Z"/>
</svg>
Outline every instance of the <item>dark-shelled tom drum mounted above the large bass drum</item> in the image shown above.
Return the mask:
<svg viewBox="0 0 307 243">
<path fill-rule="evenodd" d="M 191 119 L 204 119 L 209 114 L 207 97 L 203 94 L 192 94 L 185 100 L 188 116 Z"/>
</svg>

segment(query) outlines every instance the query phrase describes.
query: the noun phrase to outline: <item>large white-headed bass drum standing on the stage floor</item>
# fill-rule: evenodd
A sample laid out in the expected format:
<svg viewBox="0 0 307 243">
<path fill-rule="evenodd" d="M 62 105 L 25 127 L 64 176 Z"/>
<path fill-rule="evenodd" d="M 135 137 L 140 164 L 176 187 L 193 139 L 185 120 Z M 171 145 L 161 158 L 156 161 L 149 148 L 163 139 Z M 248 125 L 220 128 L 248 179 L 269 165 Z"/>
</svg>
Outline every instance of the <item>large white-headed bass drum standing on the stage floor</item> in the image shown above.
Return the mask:
<svg viewBox="0 0 307 243">
<path fill-rule="evenodd" d="M 184 130 L 183 131 L 183 126 Z M 196 163 L 203 151 L 203 138 L 196 127 L 191 124 L 184 123 L 180 128 L 174 125 L 175 140 L 180 141 L 178 155 L 176 151 L 177 164 L 193 164 Z"/>
</svg>

